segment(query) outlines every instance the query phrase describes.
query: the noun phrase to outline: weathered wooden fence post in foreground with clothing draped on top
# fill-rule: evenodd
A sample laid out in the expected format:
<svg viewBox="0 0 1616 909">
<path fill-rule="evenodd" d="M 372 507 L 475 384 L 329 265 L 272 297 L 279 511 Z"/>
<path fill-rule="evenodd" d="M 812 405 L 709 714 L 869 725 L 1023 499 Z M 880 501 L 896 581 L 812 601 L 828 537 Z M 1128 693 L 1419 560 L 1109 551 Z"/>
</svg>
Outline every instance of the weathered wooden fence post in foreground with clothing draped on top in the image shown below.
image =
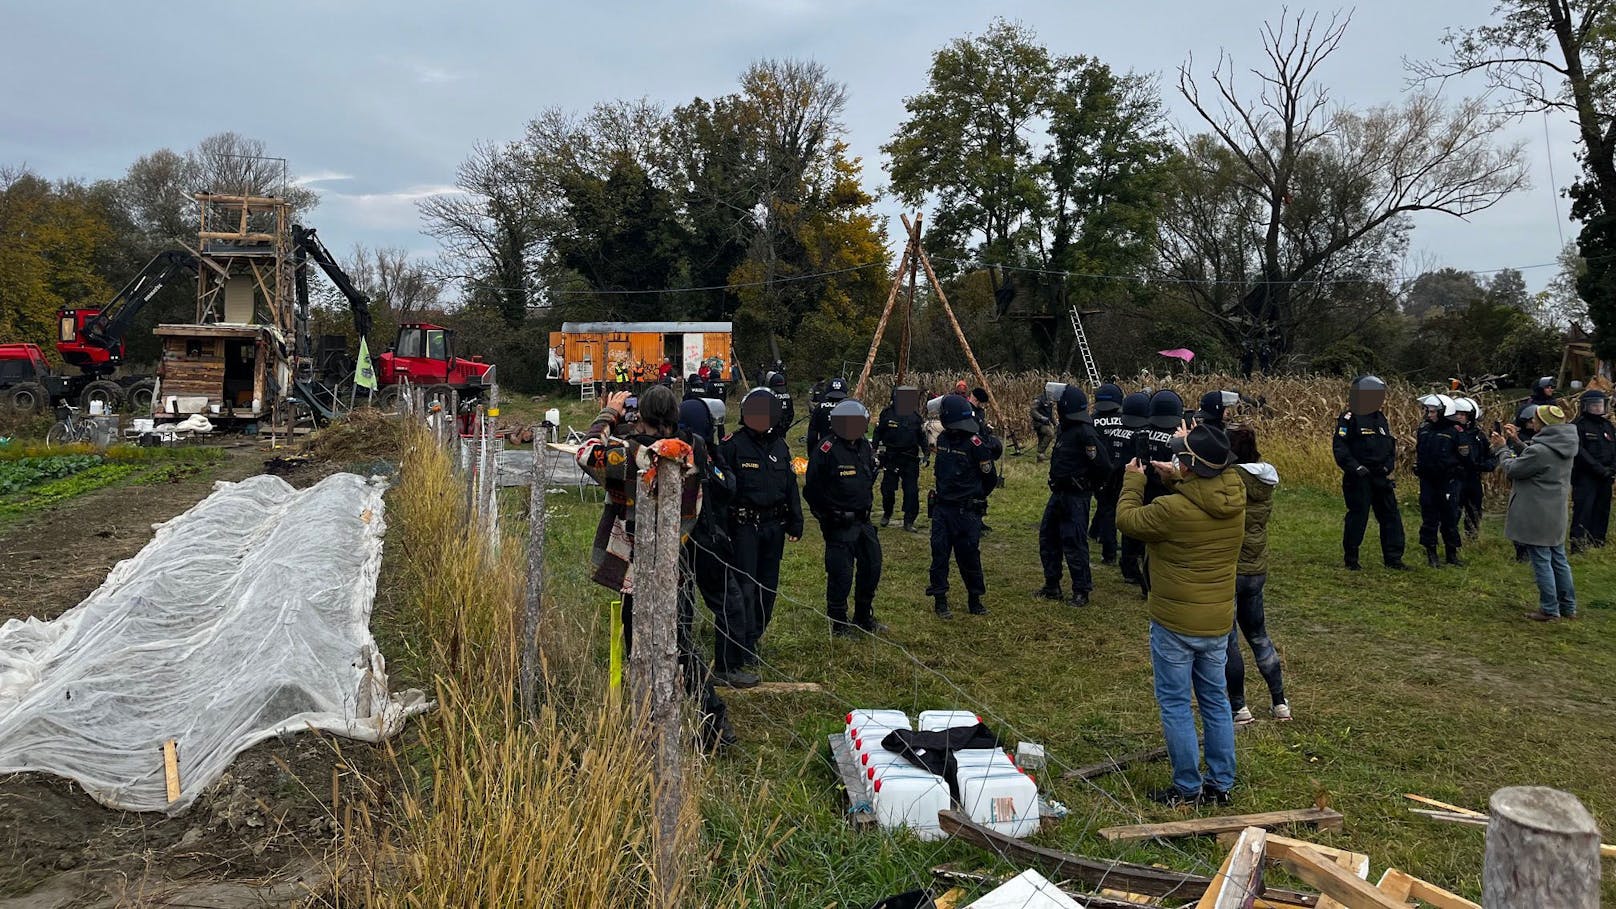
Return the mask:
<svg viewBox="0 0 1616 909">
<path fill-rule="evenodd" d="M 653 849 L 654 906 L 679 904 L 682 885 L 679 818 L 684 814 L 684 760 L 679 734 L 679 513 L 682 464 L 659 459 L 656 482 L 642 472 L 635 495 L 633 649 L 630 692 L 651 749 L 656 817 Z"/>
</svg>

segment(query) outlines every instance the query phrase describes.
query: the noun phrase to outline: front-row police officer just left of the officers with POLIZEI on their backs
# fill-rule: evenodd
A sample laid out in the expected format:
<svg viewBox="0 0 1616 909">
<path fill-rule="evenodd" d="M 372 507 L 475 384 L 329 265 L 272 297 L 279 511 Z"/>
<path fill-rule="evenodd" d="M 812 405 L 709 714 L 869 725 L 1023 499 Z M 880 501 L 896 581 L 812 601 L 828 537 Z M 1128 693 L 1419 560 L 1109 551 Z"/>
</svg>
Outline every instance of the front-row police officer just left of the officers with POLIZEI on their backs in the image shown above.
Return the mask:
<svg viewBox="0 0 1616 909">
<path fill-rule="evenodd" d="M 1060 435 L 1049 458 L 1049 501 L 1037 526 L 1037 556 L 1044 563 L 1044 586 L 1037 595 L 1060 598 L 1060 558 L 1071 573 L 1073 607 L 1089 605 L 1094 576 L 1089 573 L 1089 498 L 1110 476 L 1105 443 L 1094 432 L 1089 396 L 1076 383 L 1067 385 L 1057 403 Z"/>
</svg>

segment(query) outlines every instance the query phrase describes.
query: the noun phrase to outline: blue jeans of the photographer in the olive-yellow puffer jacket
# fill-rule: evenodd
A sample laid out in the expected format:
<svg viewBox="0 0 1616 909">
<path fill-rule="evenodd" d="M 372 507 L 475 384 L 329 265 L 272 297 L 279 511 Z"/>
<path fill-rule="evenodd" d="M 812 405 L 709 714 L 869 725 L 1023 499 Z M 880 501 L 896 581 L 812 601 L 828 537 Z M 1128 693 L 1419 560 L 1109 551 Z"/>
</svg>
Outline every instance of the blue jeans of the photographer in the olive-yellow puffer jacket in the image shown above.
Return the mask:
<svg viewBox="0 0 1616 909">
<path fill-rule="evenodd" d="M 1235 788 L 1235 715 L 1223 679 L 1227 660 L 1228 634 L 1191 637 L 1151 623 L 1155 704 L 1162 710 L 1167 757 L 1173 762 L 1173 788 L 1180 793 L 1201 791 L 1201 742 L 1189 708 L 1191 691 L 1206 731 L 1207 783 L 1223 793 Z"/>
</svg>

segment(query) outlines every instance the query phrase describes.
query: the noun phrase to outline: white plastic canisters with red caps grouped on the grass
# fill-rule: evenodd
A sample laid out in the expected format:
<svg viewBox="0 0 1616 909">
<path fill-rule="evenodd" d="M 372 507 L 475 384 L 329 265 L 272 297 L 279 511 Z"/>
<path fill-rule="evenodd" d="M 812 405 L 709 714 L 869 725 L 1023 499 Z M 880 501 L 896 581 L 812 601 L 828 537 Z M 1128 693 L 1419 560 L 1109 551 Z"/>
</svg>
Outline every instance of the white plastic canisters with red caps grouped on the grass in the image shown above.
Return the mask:
<svg viewBox="0 0 1616 909">
<path fill-rule="evenodd" d="M 963 710 L 926 710 L 920 731 L 942 733 L 974 726 L 981 717 Z M 937 812 L 952 807 L 949 781 L 916 767 L 898 752 L 881 747 L 895 729 L 915 729 L 902 710 L 853 710 L 847 715 L 847 741 L 871 789 L 876 822 L 884 828 L 908 827 L 921 839 L 941 839 Z M 999 747 L 953 752 L 958 772 L 960 810 L 971 820 L 1008 836 L 1037 830 L 1037 783 L 1008 752 Z"/>
</svg>

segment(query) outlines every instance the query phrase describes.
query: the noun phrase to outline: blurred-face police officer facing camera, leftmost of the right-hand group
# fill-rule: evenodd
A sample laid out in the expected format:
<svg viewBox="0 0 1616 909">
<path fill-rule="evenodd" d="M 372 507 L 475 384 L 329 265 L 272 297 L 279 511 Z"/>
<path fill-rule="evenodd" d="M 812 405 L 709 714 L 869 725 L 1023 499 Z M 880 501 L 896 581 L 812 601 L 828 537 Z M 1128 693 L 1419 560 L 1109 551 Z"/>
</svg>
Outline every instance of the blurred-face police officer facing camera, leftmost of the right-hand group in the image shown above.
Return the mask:
<svg viewBox="0 0 1616 909">
<path fill-rule="evenodd" d="M 1408 571 L 1403 564 L 1403 514 L 1398 511 L 1398 484 L 1391 472 L 1398 466 L 1398 440 L 1380 408 L 1387 403 L 1387 383 L 1374 375 L 1359 375 L 1348 393 L 1348 411 L 1335 421 L 1332 451 L 1341 467 L 1341 497 L 1346 498 L 1346 521 L 1341 527 L 1341 550 L 1348 571 L 1361 568 L 1357 548 L 1369 529 L 1369 511 L 1380 524 L 1380 556 L 1387 568 Z"/>
</svg>

